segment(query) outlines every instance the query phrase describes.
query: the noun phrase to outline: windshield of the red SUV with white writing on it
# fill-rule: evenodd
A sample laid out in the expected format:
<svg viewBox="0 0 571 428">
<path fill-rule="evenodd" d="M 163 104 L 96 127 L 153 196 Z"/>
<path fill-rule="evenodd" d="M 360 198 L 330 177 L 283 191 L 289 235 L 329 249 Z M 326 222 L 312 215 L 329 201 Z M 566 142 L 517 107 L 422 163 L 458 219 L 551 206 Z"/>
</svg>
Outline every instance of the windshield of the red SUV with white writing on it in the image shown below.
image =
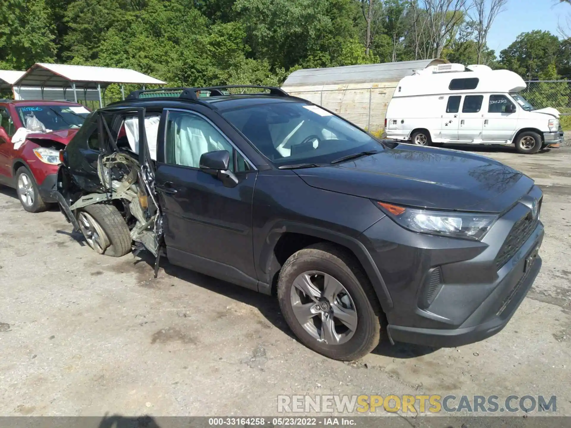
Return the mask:
<svg viewBox="0 0 571 428">
<path fill-rule="evenodd" d="M 16 107 L 16 111 L 24 126 L 27 127 L 27 124 L 34 123 L 35 128 L 32 131 L 37 131 L 38 126 L 43 130 L 41 126 L 43 124 L 46 132 L 79 128 L 89 115 L 89 110 L 83 106 L 62 106 L 61 104 Z M 41 124 L 38 124 L 36 120 L 30 120 L 34 117 Z"/>
</svg>

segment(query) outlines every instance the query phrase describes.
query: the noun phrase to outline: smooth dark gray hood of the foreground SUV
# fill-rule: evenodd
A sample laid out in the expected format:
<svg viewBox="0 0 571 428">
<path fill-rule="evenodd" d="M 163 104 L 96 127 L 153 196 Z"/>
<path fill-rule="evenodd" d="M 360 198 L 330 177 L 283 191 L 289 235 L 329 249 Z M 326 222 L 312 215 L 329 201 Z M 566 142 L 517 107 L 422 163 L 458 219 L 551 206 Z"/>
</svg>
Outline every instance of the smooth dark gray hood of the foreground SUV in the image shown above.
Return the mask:
<svg viewBox="0 0 571 428">
<path fill-rule="evenodd" d="M 408 144 L 342 164 L 294 171 L 308 185 L 324 190 L 461 211 L 503 212 L 533 187 L 528 176 L 485 156 Z"/>
</svg>

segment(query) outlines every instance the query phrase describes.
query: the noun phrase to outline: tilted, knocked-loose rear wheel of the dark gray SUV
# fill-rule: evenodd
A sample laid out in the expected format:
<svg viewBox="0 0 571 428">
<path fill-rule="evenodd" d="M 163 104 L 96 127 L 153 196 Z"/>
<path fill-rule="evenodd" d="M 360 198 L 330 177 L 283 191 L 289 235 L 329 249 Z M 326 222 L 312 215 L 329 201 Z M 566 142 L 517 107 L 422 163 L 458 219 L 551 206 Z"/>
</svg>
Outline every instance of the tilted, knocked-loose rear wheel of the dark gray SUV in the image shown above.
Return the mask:
<svg viewBox="0 0 571 428">
<path fill-rule="evenodd" d="M 131 233 L 113 205 L 93 204 L 80 208 L 77 221 L 87 245 L 99 254 L 121 257 L 131 251 Z"/>
</svg>

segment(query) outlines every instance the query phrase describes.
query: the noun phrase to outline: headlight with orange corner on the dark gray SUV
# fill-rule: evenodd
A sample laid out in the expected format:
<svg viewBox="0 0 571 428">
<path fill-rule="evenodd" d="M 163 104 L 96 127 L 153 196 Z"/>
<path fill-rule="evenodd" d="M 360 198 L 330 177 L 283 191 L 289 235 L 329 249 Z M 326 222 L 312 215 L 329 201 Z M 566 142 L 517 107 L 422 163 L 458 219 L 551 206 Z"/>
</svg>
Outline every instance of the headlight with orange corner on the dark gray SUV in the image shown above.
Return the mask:
<svg viewBox="0 0 571 428">
<path fill-rule="evenodd" d="M 463 239 L 481 239 L 496 221 L 493 214 L 456 211 L 431 211 L 377 202 L 397 224 L 413 232 L 451 236 Z"/>
</svg>

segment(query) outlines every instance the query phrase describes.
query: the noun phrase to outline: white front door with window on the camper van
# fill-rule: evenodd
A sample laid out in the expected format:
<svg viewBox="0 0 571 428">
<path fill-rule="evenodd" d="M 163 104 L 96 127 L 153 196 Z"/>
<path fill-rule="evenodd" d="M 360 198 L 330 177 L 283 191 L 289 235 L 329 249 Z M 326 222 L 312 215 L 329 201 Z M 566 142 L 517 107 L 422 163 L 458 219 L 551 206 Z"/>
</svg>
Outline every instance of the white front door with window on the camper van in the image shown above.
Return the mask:
<svg viewBox="0 0 571 428">
<path fill-rule="evenodd" d="M 503 143 L 512 138 L 517 127 L 516 105 L 506 96 L 489 97 L 488 111 L 484 112 L 482 140 Z"/>
</svg>

